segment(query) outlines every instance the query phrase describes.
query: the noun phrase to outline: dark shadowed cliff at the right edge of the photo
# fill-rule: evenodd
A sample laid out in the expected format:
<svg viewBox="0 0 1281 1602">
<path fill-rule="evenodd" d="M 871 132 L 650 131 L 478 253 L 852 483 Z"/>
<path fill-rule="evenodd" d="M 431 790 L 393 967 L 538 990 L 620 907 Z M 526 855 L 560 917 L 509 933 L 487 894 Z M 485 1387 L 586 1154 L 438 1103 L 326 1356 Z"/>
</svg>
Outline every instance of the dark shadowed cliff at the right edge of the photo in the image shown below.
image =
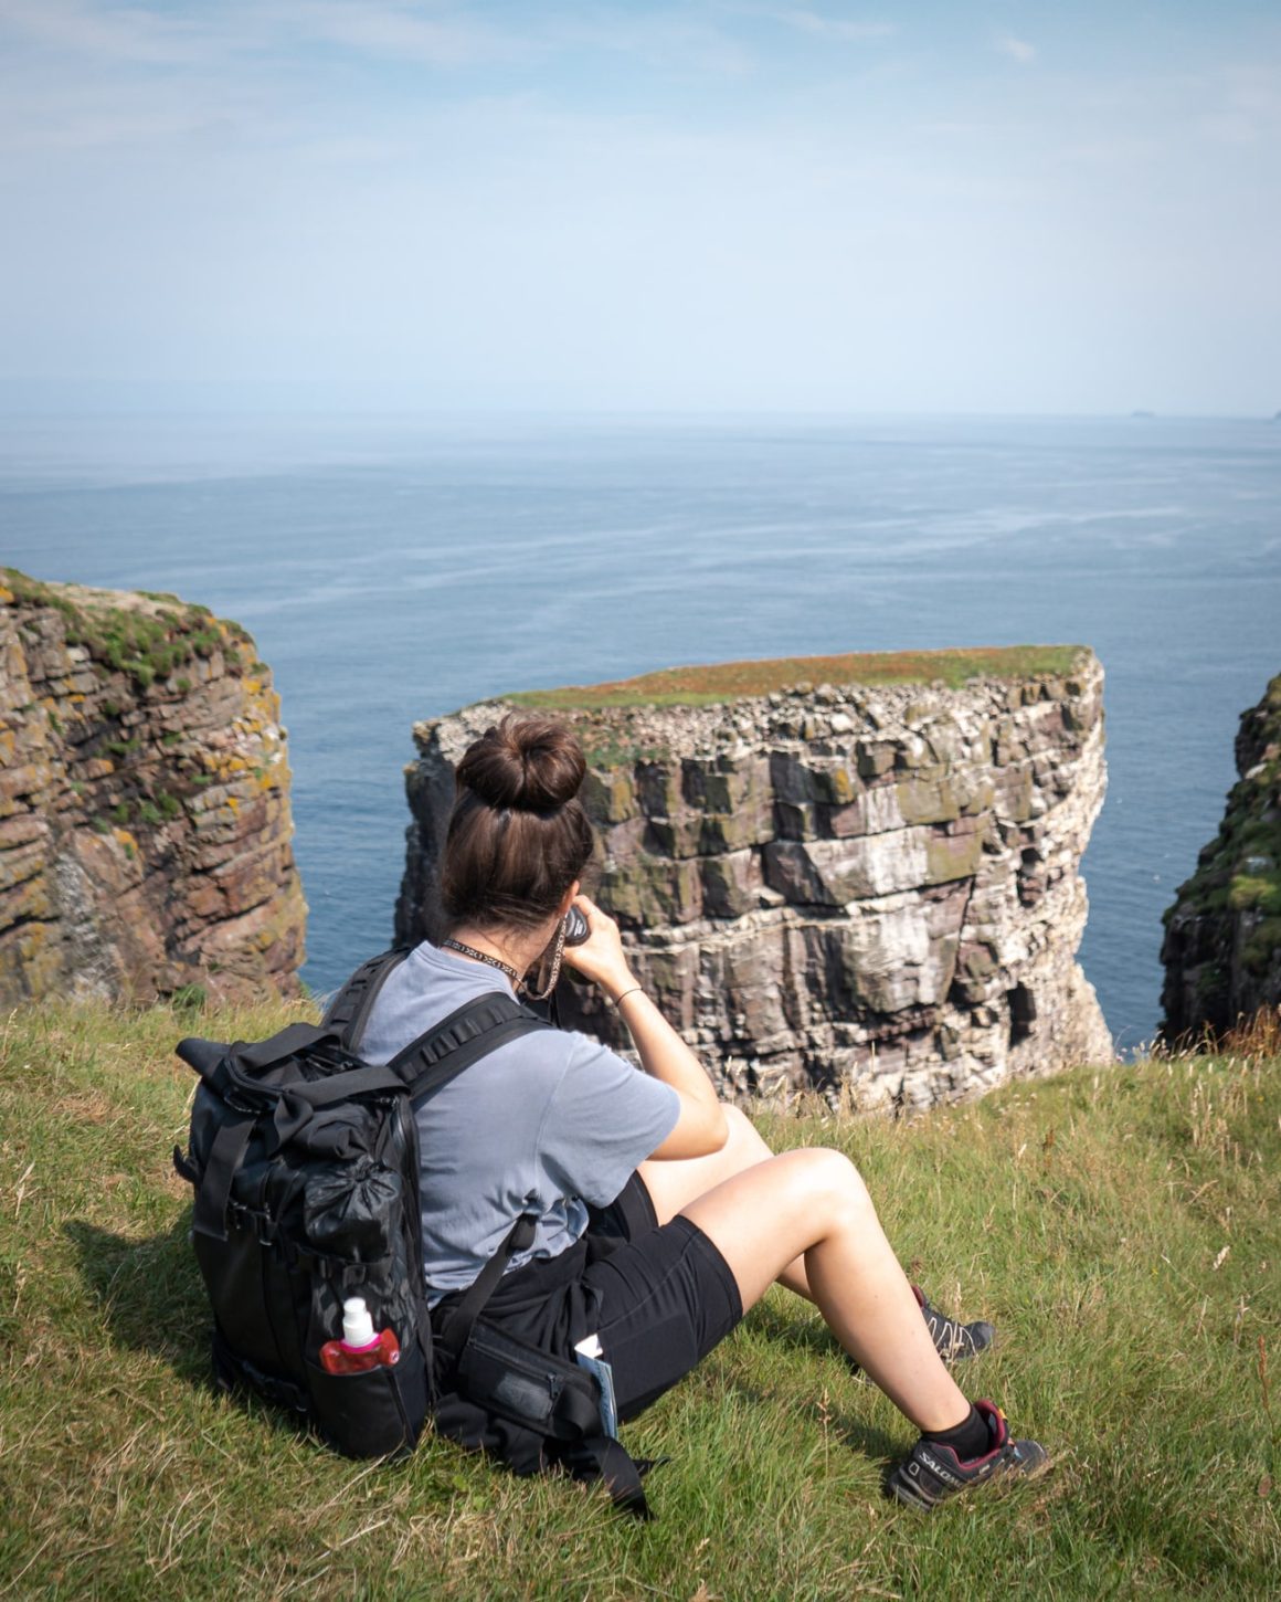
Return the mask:
<svg viewBox="0 0 1281 1602">
<path fill-rule="evenodd" d="M 1219 835 L 1166 913 L 1167 1040 L 1281 1004 L 1281 676 L 1241 716 L 1236 771 Z"/>
</svg>

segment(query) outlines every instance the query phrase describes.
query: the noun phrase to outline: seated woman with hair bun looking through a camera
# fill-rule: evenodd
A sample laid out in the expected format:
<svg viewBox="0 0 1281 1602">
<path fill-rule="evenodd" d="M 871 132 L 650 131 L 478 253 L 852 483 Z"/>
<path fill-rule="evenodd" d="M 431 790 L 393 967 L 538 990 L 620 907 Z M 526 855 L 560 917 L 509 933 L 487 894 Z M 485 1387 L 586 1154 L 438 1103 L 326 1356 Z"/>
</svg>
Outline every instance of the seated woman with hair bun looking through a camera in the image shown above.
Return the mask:
<svg viewBox="0 0 1281 1602">
<path fill-rule="evenodd" d="M 962 1355 L 990 1326 L 934 1314 L 849 1158 L 772 1155 L 637 982 L 616 924 L 580 894 L 592 851 L 583 775 L 572 732 L 546 718 L 506 718 L 471 745 L 440 868 L 450 936 L 389 976 L 362 1056 L 384 1062 L 463 1003 L 520 993 L 576 905 L 589 936 L 564 960 L 618 1008 L 644 1072 L 581 1033 L 540 1030 L 424 1101 L 432 1298 L 471 1285 L 512 1221 L 536 1214 L 533 1245 L 512 1258 L 485 1317 L 564 1357 L 599 1333 L 618 1413 L 631 1418 L 778 1280 L 818 1306 L 850 1360 L 921 1431 L 890 1477 L 898 1498 L 932 1507 L 996 1472 L 1042 1467 L 1042 1448 L 1014 1440 L 996 1407 L 966 1400 L 935 1346 Z M 616 1250 L 592 1250 L 589 1208 L 621 1219 Z"/>
</svg>

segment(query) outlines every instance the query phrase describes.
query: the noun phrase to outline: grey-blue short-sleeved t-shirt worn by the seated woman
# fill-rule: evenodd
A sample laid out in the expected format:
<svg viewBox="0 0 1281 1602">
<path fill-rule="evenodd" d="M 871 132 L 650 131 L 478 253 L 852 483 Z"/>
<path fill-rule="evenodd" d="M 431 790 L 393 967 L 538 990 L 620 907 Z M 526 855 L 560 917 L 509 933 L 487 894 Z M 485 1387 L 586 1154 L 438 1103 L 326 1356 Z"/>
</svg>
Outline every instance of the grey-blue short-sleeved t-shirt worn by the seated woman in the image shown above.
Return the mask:
<svg viewBox="0 0 1281 1602">
<path fill-rule="evenodd" d="M 506 979 L 453 952 L 415 947 L 388 977 L 360 1043 L 389 1062 L 455 1008 Z M 533 1246 L 556 1258 L 588 1227 L 586 1203 L 612 1202 L 676 1128 L 681 1099 L 608 1048 L 568 1030 L 508 1041 L 418 1107 L 423 1267 L 431 1299 L 461 1290 L 520 1213 L 540 1218 Z"/>
</svg>

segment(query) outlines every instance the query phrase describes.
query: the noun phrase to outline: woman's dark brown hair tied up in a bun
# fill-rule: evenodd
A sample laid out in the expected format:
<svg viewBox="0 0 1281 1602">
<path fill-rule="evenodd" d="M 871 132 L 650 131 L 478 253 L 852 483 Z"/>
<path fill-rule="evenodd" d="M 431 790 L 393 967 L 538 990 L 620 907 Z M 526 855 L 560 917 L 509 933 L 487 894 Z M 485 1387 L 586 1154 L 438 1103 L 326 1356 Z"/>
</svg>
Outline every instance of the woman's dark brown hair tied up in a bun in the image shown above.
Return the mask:
<svg viewBox="0 0 1281 1602">
<path fill-rule="evenodd" d="M 508 713 L 468 747 L 440 868 L 452 926 L 532 929 L 556 915 L 591 857 L 584 772 L 578 740 L 551 718 Z"/>
</svg>

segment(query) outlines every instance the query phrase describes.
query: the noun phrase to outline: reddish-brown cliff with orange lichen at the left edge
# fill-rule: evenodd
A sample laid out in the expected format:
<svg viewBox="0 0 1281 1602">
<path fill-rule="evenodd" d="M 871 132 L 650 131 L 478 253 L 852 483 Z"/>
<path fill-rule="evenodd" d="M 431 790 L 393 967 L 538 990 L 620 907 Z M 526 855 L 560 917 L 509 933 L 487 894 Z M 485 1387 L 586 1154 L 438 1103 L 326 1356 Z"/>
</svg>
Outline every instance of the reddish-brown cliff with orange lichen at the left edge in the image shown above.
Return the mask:
<svg viewBox="0 0 1281 1602">
<path fill-rule="evenodd" d="M 0 1006 L 296 988 L 279 718 L 207 609 L 0 569 Z"/>
</svg>

